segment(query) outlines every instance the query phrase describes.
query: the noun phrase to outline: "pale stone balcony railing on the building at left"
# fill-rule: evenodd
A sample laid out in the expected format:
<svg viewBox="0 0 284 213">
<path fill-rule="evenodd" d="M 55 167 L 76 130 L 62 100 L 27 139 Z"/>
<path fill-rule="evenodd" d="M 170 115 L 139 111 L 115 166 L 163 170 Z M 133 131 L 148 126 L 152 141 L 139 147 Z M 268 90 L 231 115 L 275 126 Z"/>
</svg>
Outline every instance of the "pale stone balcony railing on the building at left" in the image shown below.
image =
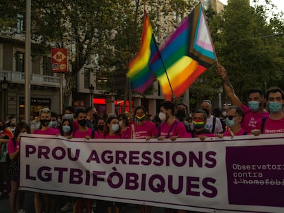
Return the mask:
<svg viewBox="0 0 284 213">
<path fill-rule="evenodd" d="M 0 81 L 4 79 L 4 77 L 6 77 L 10 83 L 25 84 L 25 73 L 0 70 Z M 31 74 L 30 84 L 60 88 L 60 77 Z M 62 80 L 62 84 L 64 87 L 65 79 Z"/>
</svg>

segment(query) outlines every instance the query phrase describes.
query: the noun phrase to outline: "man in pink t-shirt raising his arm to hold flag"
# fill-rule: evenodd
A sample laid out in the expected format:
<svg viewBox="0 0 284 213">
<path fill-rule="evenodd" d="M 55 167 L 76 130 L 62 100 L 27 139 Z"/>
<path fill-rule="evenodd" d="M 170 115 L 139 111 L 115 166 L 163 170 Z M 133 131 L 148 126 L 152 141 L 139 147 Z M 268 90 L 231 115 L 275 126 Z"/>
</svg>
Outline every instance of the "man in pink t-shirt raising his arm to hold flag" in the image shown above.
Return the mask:
<svg viewBox="0 0 284 213">
<path fill-rule="evenodd" d="M 268 117 L 268 112 L 263 108 L 265 98 L 263 97 L 262 90 L 252 89 L 248 91 L 248 107 L 246 107 L 246 105 L 241 103 L 237 95 L 235 95 L 225 68 L 220 64 L 217 64 L 217 74 L 220 75 L 224 81 L 224 90 L 232 105 L 239 105 L 244 111 L 244 119 L 241 122 L 241 127 L 248 132 L 255 129 L 257 121 L 260 118 Z"/>
</svg>

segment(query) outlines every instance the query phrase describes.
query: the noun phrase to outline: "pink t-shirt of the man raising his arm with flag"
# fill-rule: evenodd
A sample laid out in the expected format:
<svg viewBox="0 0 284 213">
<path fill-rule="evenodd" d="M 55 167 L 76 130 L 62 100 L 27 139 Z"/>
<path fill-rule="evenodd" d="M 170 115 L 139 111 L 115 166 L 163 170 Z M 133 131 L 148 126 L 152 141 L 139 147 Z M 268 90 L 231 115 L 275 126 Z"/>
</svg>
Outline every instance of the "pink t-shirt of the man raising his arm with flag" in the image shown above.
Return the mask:
<svg viewBox="0 0 284 213">
<path fill-rule="evenodd" d="M 250 132 L 252 129 L 256 129 L 257 121 L 263 117 L 268 117 L 268 112 L 252 112 L 250 108 L 248 108 L 243 103 L 241 104 L 241 109 L 244 111 L 244 119 L 241 121 L 241 128 Z"/>
</svg>

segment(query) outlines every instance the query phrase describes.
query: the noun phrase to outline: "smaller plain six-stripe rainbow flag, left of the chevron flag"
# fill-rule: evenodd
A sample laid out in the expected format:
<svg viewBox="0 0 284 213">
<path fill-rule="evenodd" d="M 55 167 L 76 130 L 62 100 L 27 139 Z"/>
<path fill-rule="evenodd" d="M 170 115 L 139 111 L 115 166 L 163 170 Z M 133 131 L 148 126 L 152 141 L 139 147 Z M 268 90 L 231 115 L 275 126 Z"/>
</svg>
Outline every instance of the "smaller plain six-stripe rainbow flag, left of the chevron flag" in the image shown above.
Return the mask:
<svg viewBox="0 0 284 213">
<path fill-rule="evenodd" d="M 143 93 L 154 81 L 154 75 L 150 71 L 150 62 L 157 51 L 158 46 L 150 20 L 145 12 L 139 52 L 130 61 L 128 73 L 126 73 L 126 76 L 130 79 L 132 91 Z"/>
</svg>

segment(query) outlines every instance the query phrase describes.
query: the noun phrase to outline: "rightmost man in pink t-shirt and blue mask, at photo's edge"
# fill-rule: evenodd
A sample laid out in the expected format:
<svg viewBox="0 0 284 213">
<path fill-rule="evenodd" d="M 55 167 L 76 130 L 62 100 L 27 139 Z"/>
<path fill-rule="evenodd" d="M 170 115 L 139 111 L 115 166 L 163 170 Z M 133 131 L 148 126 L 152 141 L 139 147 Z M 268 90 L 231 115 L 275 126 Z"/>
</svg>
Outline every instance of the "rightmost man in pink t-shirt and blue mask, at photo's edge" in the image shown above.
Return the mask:
<svg viewBox="0 0 284 213">
<path fill-rule="evenodd" d="M 257 121 L 257 127 L 252 130 L 255 136 L 259 134 L 284 133 L 284 92 L 279 87 L 269 88 L 266 92 L 269 116 Z"/>
</svg>

